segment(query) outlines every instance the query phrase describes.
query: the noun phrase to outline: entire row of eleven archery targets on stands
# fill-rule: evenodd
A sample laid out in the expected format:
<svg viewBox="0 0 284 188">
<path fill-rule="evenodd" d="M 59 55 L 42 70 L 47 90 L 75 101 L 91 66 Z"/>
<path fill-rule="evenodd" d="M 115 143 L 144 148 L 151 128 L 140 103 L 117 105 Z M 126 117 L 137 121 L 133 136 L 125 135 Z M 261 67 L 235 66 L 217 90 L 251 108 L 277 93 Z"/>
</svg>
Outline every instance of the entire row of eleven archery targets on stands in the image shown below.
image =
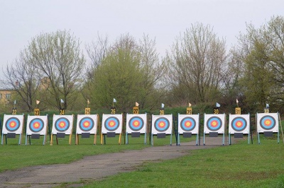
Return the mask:
<svg viewBox="0 0 284 188">
<path fill-rule="evenodd" d="M 137 108 L 137 107 L 136 107 Z M 114 137 L 119 134 L 119 144 L 121 143 L 121 134 L 123 134 L 124 114 L 115 114 L 115 110 L 111 108 L 111 114 L 102 115 L 102 129 L 101 144 L 103 144 L 103 137 Z M 138 114 L 138 109 L 133 108 L 133 114 L 126 114 L 126 143 L 129 143 L 129 135 L 131 137 L 140 137 L 144 134 L 144 143 L 146 143 L 147 135 L 147 114 Z M 151 144 L 153 145 L 153 136 L 158 139 L 165 138 L 170 135 L 170 145 L 172 144 L 173 135 L 173 114 L 165 114 L 164 109 L 160 110 L 159 115 L 151 116 L 151 129 L 148 131 L 151 136 Z M 74 115 L 59 114 L 53 115 L 53 127 L 50 133 L 50 145 L 53 145 L 53 136 L 64 138 L 69 135 L 69 144 L 71 144 L 72 128 L 73 128 Z M 257 133 L 258 143 L 260 143 L 259 134 L 264 136 L 272 136 L 273 133 L 278 134 L 279 143 L 279 121 L 278 113 L 257 113 Z M 6 138 L 15 138 L 19 136 L 18 144 L 21 144 L 21 136 L 23 133 L 24 115 L 4 114 L 4 126 L 2 130 L 1 144 L 3 144 L 4 136 Z M 97 142 L 97 132 L 99 125 L 98 114 L 77 114 L 77 128 L 76 128 L 76 144 L 79 144 L 79 136 L 82 138 L 89 138 L 94 135 L 94 144 Z M 196 135 L 196 145 L 198 145 L 198 137 L 200 136 L 200 114 L 192 114 L 191 107 L 187 107 L 187 114 L 178 114 L 178 134 L 177 143 L 180 145 L 180 135 L 185 138 Z M 243 138 L 244 134 L 248 135 L 248 142 L 251 136 L 251 123 L 250 114 L 229 114 L 229 144 L 231 144 L 231 135 L 235 138 Z M 43 144 L 48 134 L 48 115 L 28 115 L 26 123 L 26 144 L 28 136 L 31 139 L 39 139 L 44 136 Z M 226 114 L 218 114 L 214 109 L 214 114 L 204 114 L 204 131 L 203 131 L 203 144 L 205 145 L 206 135 L 209 137 L 217 137 L 222 134 L 222 144 L 226 136 Z"/>
</svg>

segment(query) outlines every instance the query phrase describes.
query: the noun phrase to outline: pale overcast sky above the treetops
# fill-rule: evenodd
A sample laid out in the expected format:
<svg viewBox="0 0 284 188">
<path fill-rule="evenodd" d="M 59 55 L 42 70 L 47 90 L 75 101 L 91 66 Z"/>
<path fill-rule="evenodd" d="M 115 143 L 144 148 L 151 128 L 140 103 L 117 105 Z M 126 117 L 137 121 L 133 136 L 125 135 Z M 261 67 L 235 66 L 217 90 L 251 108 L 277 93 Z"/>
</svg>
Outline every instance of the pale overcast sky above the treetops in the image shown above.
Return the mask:
<svg viewBox="0 0 284 188">
<path fill-rule="evenodd" d="M 82 48 L 97 33 L 111 42 L 121 34 L 138 40 L 146 33 L 163 56 L 191 24 L 212 26 L 229 49 L 246 23 L 258 27 L 272 16 L 284 16 L 283 0 L 0 0 L 0 67 L 40 33 L 70 30 Z"/>
</svg>

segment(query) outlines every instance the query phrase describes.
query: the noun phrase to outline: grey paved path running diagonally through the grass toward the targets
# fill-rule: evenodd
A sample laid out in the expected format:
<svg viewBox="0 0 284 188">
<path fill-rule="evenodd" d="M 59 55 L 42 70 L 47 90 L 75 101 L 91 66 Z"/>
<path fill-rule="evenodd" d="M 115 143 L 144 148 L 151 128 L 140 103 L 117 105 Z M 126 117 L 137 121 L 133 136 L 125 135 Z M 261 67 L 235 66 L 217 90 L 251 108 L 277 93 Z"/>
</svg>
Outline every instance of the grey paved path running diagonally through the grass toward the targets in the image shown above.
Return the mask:
<svg viewBox="0 0 284 188">
<path fill-rule="evenodd" d="M 0 187 L 55 187 L 66 182 L 99 180 L 119 172 L 136 170 L 144 162 L 178 158 L 189 154 L 191 150 L 215 146 L 222 146 L 222 137 L 208 137 L 205 146 L 196 146 L 195 141 L 192 141 L 181 143 L 180 146 L 148 147 L 138 151 L 87 156 L 70 164 L 41 165 L 6 171 L 0 173 Z"/>
</svg>

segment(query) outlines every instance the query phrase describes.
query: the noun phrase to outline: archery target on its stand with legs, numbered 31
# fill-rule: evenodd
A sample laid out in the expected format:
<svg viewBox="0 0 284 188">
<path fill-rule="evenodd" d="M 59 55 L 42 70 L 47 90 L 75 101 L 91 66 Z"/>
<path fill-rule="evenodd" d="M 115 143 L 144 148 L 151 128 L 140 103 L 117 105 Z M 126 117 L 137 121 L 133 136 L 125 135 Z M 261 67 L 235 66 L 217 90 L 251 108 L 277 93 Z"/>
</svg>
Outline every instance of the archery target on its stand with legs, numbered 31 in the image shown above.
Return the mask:
<svg viewBox="0 0 284 188">
<path fill-rule="evenodd" d="M 248 135 L 248 143 L 251 135 L 251 124 L 249 114 L 229 114 L 229 145 L 231 145 L 231 134 L 235 139 L 242 139 L 244 134 Z"/>
</svg>

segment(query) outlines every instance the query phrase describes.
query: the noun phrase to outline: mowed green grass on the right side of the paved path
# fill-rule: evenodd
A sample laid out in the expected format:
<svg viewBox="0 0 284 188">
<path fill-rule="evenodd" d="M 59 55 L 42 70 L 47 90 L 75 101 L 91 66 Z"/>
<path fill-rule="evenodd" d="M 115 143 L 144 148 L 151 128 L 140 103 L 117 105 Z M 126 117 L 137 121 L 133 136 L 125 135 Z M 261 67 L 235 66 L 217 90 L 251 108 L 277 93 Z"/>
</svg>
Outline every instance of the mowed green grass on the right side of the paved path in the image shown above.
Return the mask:
<svg viewBox="0 0 284 188">
<path fill-rule="evenodd" d="M 253 143 L 190 151 L 85 187 L 284 187 L 283 141 L 261 137 L 261 144 Z"/>
</svg>

